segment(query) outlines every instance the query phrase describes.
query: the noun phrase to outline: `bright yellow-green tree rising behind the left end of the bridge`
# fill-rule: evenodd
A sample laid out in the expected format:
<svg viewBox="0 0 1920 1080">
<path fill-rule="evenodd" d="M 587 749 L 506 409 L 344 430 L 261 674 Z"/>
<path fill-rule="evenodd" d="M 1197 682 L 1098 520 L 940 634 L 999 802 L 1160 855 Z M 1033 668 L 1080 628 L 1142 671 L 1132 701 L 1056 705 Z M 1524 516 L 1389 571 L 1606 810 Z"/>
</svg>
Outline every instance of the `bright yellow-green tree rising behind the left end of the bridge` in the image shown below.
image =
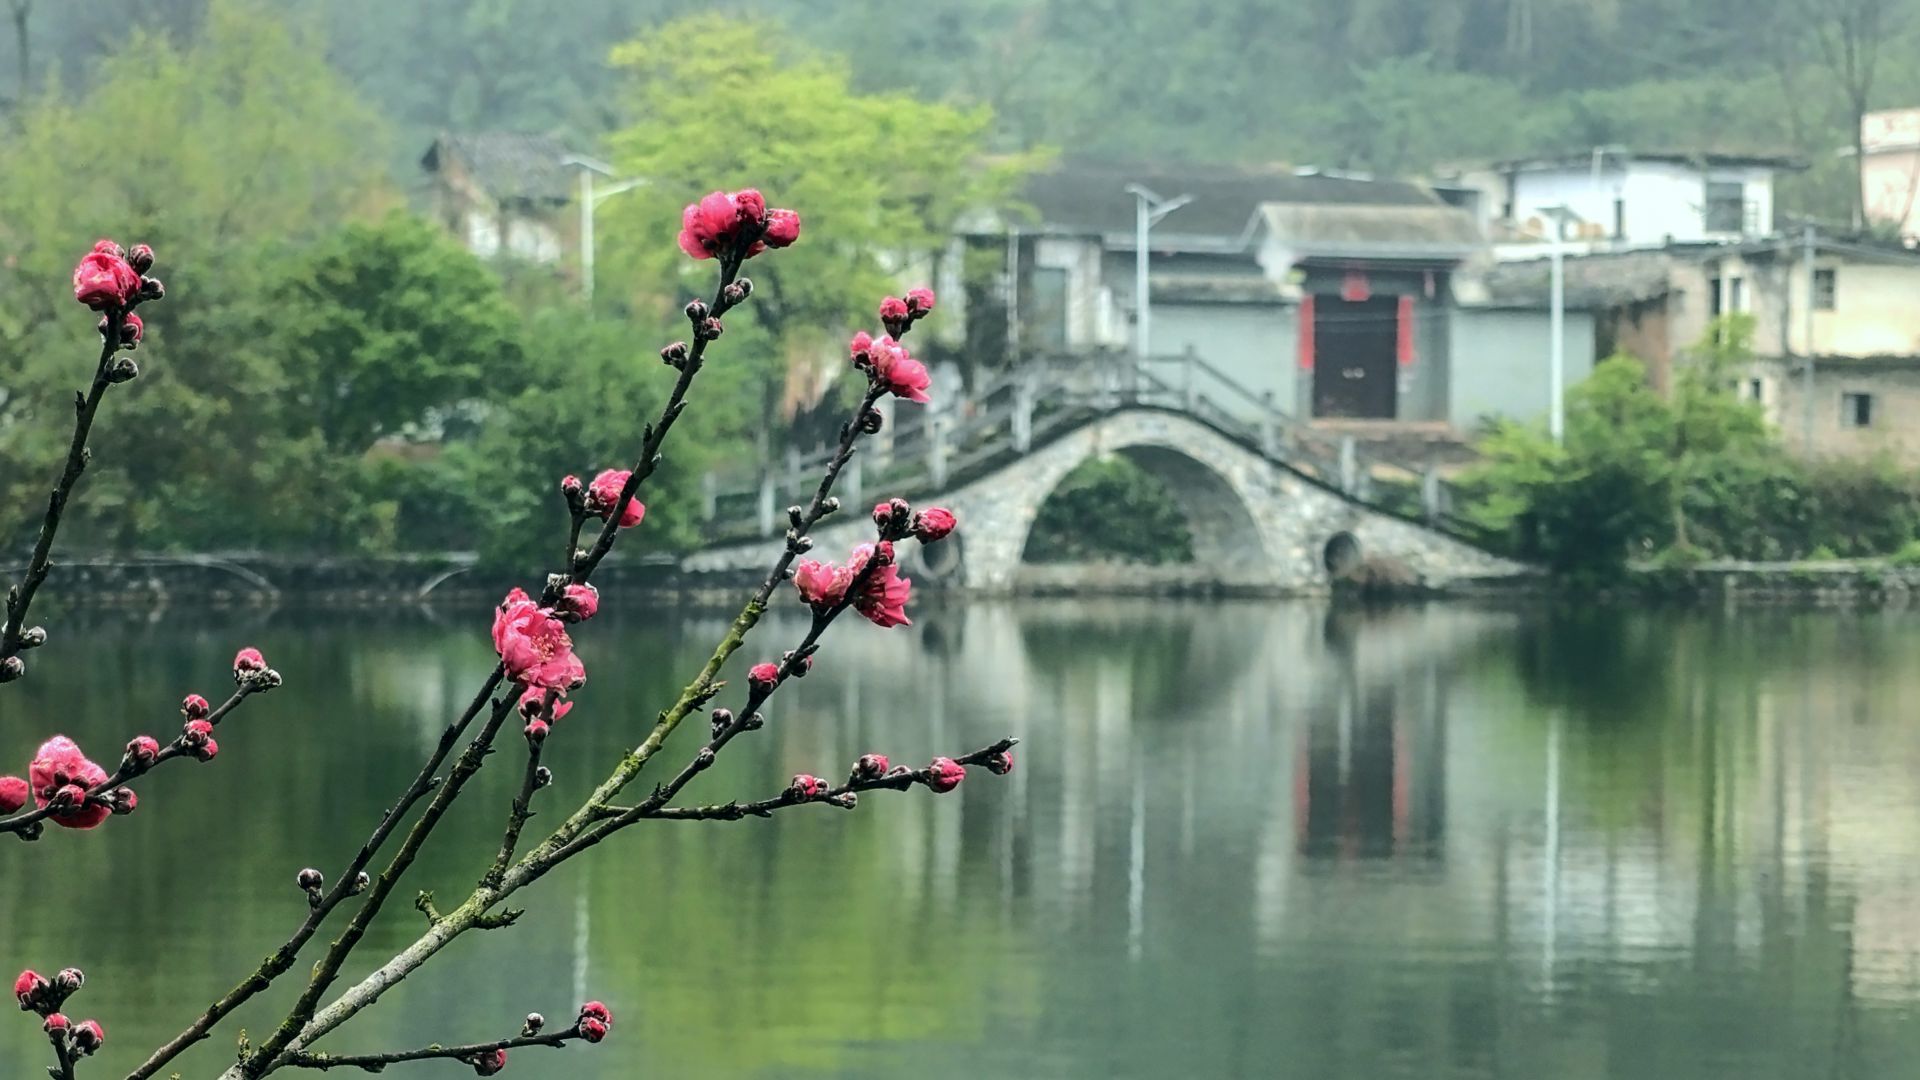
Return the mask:
<svg viewBox="0 0 1920 1080">
<path fill-rule="evenodd" d="M 705 192 L 758 186 L 804 209 L 801 242 L 778 265 L 747 265 L 770 288 L 735 321 L 758 323 L 770 348 L 728 365 L 758 404 L 755 432 L 810 405 L 845 369 L 849 332 L 877 329 L 879 296 L 902 275 L 929 281 L 954 221 L 1006 200 L 1029 163 L 987 158 L 987 108 L 856 92 L 851 58 L 787 40 L 768 23 L 695 15 L 612 52 L 636 119 L 609 144 L 624 173 L 647 179 L 605 215 L 630 302 L 670 317 L 705 281 L 674 244 L 682 206 Z"/>
</svg>

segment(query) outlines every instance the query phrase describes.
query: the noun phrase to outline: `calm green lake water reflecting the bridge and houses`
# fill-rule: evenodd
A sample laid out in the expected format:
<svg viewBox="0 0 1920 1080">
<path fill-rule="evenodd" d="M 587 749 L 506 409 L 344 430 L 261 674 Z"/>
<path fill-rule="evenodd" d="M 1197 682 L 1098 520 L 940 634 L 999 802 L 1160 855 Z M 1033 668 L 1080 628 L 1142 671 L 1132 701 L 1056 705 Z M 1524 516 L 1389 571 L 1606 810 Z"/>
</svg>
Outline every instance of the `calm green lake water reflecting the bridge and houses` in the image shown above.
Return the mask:
<svg viewBox="0 0 1920 1080">
<path fill-rule="evenodd" d="M 574 805 L 722 626 L 616 607 L 578 636 L 591 682 L 549 744 L 545 807 Z M 607 1043 L 515 1051 L 507 1076 L 1914 1074 L 1920 615 L 916 617 L 837 632 L 691 794 L 1008 732 L 1027 740 L 1014 774 L 851 815 L 636 828 L 323 1045 L 495 1038 L 593 995 L 618 1015 Z M 0 963 L 86 969 L 71 1011 L 109 1032 L 90 1078 L 131 1068 L 301 919 L 294 872 L 342 865 L 405 784 L 492 663 L 486 619 L 67 626 L 0 692 L 6 773 L 50 730 L 102 761 L 173 730 L 238 644 L 288 678 L 223 726 L 217 763 L 148 778 L 134 817 L 0 844 Z M 774 621 L 755 657 L 801 630 Z M 465 896 L 515 780 L 482 774 L 417 888 Z M 355 976 L 420 928 L 392 905 Z M 182 1072 L 211 1076 L 234 1030 Z M 0 1076 L 42 1059 L 36 1026 L 0 1015 Z"/>
</svg>

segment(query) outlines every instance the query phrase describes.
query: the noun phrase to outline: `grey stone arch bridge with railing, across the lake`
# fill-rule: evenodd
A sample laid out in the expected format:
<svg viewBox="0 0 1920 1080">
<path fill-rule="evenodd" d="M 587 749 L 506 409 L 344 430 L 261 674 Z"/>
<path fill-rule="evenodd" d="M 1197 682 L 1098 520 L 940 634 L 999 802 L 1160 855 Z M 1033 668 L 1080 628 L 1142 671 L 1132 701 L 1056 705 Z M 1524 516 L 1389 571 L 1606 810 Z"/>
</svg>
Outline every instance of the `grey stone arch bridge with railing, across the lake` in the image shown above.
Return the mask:
<svg viewBox="0 0 1920 1080">
<path fill-rule="evenodd" d="M 783 469 L 732 484 L 710 477 L 707 513 L 718 542 L 689 555 L 685 569 L 764 569 L 768 538 L 785 527 L 778 509 L 804 502 L 828 454 L 789 455 Z M 1106 454 L 1165 480 L 1190 525 L 1192 563 L 1116 580 L 1112 569 L 1023 559 L 1046 498 L 1077 465 Z M 1352 438 L 1294 421 L 1194 356 L 1035 363 L 948 411 L 899 409 L 881 436 L 862 442 L 837 492 L 851 513 L 816 528 L 820 552 L 872 540 L 866 503 L 904 494 L 960 519 L 954 540 L 902 548 L 912 550 L 910 575 L 979 592 L 1071 584 L 1317 592 L 1357 559 L 1411 571 L 1436 588 L 1528 573 L 1459 534 L 1432 467 L 1371 459 Z"/>
</svg>

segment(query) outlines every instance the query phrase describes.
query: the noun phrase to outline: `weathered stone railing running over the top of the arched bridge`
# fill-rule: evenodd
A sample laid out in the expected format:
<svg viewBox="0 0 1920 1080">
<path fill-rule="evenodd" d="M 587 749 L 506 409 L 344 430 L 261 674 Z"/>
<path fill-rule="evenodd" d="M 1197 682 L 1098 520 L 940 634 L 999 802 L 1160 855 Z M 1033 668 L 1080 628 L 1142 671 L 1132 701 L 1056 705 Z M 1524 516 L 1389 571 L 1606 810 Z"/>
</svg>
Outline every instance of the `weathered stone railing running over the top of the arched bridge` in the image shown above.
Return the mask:
<svg viewBox="0 0 1920 1080">
<path fill-rule="evenodd" d="M 881 434 L 862 446 L 841 473 L 839 492 L 860 505 L 866 492 L 939 490 L 1044 442 L 1087 415 L 1127 405 L 1190 415 L 1221 434 L 1284 463 L 1356 502 L 1453 525 L 1450 484 L 1432 463 L 1371 455 L 1352 434 L 1319 430 L 1281 409 L 1200 356 L 1133 357 L 1121 354 L 1050 356 L 995 375 L 966 398 L 925 409 L 895 409 Z M 804 502 L 835 448 L 789 448 L 764 469 L 708 473 L 703 480 L 708 521 L 753 523 L 772 534 L 780 507 Z"/>
</svg>

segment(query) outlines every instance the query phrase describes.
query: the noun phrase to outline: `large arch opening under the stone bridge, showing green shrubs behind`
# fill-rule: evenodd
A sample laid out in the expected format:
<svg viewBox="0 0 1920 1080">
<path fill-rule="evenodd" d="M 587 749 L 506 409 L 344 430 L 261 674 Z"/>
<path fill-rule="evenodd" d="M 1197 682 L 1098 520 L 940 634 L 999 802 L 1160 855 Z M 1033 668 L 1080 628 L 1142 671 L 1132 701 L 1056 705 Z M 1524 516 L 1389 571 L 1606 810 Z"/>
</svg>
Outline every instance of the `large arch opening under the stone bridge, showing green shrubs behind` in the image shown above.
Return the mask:
<svg viewBox="0 0 1920 1080">
<path fill-rule="evenodd" d="M 1106 482 L 1089 484 L 1100 473 Z M 1069 471 L 1041 500 L 1021 544 L 1023 563 L 1190 563 L 1229 573 L 1265 559 L 1260 525 L 1233 484 L 1212 465 L 1152 444 L 1116 448 Z"/>
</svg>

